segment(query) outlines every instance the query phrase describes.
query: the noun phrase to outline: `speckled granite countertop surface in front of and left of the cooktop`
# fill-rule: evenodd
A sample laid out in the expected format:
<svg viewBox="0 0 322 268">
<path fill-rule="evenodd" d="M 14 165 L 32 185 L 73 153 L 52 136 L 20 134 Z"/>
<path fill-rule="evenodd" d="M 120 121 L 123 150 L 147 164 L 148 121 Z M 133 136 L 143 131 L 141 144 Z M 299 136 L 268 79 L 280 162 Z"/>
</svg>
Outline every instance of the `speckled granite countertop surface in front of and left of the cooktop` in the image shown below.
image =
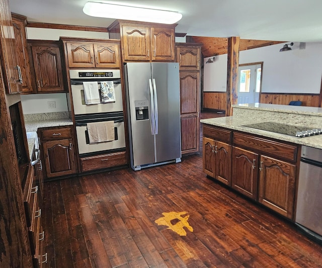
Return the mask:
<svg viewBox="0 0 322 268">
<path fill-rule="evenodd" d="M 322 135 L 298 138 L 290 135 L 284 135 L 284 134 L 279 134 L 275 132 L 244 127 L 244 125 L 262 123 L 263 121 L 259 121 L 259 122 L 256 122 L 254 120 L 247 121 L 245 119 L 238 119 L 238 118 L 234 118 L 233 116 L 229 116 L 229 117 L 201 119 L 200 122 L 207 125 L 223 127 L 227 129 L 237 130 L 241 132 L 256 134 L 263 137 L 278 139 L 281 141 L 286 141 L 286 142 L 291 142 L 299 145 L 306 145 L 306 146 L 322 149 Z"/>
</svg>

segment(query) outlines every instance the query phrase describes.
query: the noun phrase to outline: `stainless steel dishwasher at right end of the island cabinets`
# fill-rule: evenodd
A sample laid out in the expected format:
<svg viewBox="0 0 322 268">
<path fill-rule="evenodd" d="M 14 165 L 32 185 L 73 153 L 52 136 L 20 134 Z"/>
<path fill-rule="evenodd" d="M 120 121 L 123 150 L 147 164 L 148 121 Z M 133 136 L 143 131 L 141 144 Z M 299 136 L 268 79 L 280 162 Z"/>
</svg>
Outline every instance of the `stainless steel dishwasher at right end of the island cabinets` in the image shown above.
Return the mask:
<svg viewBox="0 0 322 268">
<path fill-rule="evenodd" d="M 322 149 L 302 146 L 295 222 L 322 242 Z"/>
</svg>

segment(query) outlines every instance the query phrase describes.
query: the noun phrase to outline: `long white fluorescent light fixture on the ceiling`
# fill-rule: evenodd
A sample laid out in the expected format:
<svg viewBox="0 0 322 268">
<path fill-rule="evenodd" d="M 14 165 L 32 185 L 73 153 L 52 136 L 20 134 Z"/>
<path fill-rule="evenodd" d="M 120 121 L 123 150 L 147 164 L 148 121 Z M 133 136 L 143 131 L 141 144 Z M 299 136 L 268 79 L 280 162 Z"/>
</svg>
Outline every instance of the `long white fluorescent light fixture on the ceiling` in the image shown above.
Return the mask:
<svg viewBox="0 0 322 268">
<path fill-rule="evenodd" d="M 181 20 L 178 12 L 87 2 L 83 12 L 89 16 L 119 20 L 174 24 Z"/>
</svg>

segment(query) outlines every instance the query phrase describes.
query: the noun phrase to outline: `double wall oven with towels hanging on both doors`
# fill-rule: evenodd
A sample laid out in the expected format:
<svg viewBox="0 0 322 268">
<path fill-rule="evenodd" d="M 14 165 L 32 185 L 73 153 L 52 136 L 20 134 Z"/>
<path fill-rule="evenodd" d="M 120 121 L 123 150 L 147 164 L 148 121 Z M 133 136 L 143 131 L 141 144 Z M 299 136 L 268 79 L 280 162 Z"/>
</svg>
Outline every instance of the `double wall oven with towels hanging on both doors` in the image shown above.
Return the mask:
<svg viewBox="0 0 322 268">
<path fill-rule="evenodd" d="M 69 70 L 79 156 L 117 152 L 125 148 L 122 86 L 119 69 Z M 87 104 L 84 82 L 98 84 L 99 100 Z M 109 86 L 104 87 L 108 84 Z M 109 96 L 110 99 L 104 96 Z M 114 140 L 90 143 L 88 124 L 114 122 Z"/>
</svg>

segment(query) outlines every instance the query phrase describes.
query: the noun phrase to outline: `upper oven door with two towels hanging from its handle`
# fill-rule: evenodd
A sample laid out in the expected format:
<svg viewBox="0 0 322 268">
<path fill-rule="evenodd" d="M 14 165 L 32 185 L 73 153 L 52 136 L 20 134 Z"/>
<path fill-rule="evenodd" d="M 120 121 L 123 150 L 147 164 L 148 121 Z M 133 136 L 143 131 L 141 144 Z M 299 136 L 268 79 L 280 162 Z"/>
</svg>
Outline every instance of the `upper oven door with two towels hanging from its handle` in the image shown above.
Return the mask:
<svg viewBox="0 0 322 268">
<path fill-rule="evenodd" d="M 101 84 L 99 83 L 99 88 Z M 85 104 L 85 95 L 82 82 L 71 81 L 71 95 L 75 115 L 123 112 L 122 86 L 119 80 L 114 80 L 115 102 L 100 104 Z"/>
</svg>

